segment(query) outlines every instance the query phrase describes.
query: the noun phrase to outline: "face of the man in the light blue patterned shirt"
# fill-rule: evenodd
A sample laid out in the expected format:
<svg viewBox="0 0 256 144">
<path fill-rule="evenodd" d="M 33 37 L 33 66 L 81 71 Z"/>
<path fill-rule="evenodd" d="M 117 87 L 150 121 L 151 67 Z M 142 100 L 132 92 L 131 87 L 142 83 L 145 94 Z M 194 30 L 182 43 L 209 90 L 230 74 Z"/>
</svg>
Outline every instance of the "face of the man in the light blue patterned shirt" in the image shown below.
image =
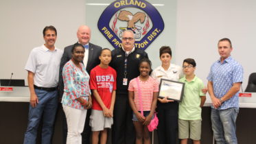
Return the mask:
<svg viewBox="0 0 256 144">
<path fill-rule="evenodd" d="M 233 50 L 233 48 L 231 47 L 229 41 L 220 41 L 220 43 L 218 43 L 218 51 L 220 53 L 220 58 L 222 60 L 225 60 L 226 58 L 228 58 L 231 55 L 231 51 Z"/>
</svg>

